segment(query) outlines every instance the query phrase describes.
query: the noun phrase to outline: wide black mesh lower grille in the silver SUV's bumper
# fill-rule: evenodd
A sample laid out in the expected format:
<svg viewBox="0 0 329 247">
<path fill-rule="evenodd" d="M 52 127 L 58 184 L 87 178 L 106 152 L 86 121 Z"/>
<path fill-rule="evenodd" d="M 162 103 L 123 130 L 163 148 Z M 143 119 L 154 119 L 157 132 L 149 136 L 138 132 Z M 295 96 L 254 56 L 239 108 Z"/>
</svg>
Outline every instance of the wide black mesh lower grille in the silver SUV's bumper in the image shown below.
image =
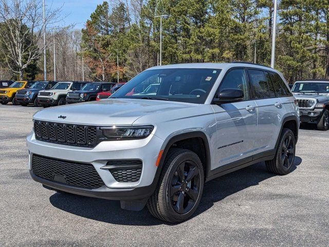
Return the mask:
<svg viewBox="0 0 329 247">
<path fill-rule="evenodd" d="M 104 186 L 92 164 L 76 163 L 33 154 L 32 171 L 42 179 L 70 186 L 95 189 Z"/>
</svg>

